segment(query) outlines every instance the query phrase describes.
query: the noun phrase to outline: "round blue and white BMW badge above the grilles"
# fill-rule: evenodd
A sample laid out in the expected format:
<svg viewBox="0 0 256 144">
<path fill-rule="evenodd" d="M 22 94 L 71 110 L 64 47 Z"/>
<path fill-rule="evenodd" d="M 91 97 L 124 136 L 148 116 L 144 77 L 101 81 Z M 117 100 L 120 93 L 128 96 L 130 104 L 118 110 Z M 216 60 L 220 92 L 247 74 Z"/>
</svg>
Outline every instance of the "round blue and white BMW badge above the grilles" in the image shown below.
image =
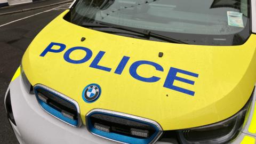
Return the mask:
<svg viewBox="0 0 256 144">
<path fill-rule="evenodd" d="M 101 94 L 101 89 L 98 84 L 89 84 L 83 90 L 83 100 L 85 102 L 91 103 L 96 101 Z"/>
</svg>

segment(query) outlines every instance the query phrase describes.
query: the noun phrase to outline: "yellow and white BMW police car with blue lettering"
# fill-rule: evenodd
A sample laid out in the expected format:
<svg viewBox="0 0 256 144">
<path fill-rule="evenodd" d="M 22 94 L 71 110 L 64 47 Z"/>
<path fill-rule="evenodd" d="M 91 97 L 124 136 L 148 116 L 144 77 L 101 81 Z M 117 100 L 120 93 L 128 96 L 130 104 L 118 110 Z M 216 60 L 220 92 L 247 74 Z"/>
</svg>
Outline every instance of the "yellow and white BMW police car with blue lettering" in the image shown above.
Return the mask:
<svg viewBox="0 0 256 144">
<path fill-rule="evenodd" d="M 256 1 L 77 0 L 5 96 L 20 143 L 255 143 Z"/>
</svg>

